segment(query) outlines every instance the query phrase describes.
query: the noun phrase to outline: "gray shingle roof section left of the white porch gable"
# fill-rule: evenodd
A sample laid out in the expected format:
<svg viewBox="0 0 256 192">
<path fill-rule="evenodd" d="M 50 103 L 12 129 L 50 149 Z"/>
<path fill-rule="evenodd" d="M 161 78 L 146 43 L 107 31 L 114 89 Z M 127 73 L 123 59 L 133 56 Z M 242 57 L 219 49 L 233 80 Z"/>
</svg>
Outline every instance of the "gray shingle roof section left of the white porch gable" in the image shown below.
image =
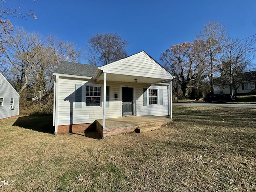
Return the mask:
<svg viewBox="0 0 256 192">
<path fill-rule="evenodd" d="M 63 61 L 54 73 L 93 77 L 98 66 Z"/>
</svg>

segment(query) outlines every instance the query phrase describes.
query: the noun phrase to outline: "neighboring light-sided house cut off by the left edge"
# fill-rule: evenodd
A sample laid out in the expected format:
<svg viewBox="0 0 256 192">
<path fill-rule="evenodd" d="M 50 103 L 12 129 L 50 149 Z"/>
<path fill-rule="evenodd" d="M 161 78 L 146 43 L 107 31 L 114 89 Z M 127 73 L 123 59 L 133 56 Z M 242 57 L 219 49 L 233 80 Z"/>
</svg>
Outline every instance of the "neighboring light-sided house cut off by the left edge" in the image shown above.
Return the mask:
<svg viewBox="0 0 256 192">
<path fill-rule="evenodd" d="M 0 73 L 0 119 L 19 114 L 20 95 Z"/>
</svg>

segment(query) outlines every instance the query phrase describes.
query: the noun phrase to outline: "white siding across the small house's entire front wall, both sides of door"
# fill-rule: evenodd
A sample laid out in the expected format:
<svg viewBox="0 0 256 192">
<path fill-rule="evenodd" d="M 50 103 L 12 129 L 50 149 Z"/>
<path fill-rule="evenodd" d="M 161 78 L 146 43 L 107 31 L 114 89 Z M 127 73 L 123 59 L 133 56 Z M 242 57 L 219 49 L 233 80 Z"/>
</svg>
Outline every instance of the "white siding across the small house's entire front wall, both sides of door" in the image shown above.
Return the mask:
<svg viewBox="0 0 256 192">
<path fill-rule="evenodd" d="M 83 87 L 82 108 L 75 108 L 75 91 L 76 84 Z M 58 125 L 92 123 L 96 119 L 103 118 L 103 93 L 101 93 L 101 106 L 85 106 L 85 90 L 86 86 L 102 86 L 103 82 L 86 81 L 78 78 L 59 77 L 58 83 Z M 126 82 L 110 82 L 107 81 L 109 87 L 109 107 L 106 108 L 106 118 L 117 118 L 122 116 L 122 86 L 134 87 L 134 108 L 135 115 L 168 115 L 168 90 L 166 86 L 150 86 L 152 89 L 162 89 L 163 105 L 144 106 L 143 88 L 147 84 L 126 83 Z M 103 91 L 103 90 L 101 90 Z M 115 98 L 117 94 L 117 98 Z"/>
</svg>

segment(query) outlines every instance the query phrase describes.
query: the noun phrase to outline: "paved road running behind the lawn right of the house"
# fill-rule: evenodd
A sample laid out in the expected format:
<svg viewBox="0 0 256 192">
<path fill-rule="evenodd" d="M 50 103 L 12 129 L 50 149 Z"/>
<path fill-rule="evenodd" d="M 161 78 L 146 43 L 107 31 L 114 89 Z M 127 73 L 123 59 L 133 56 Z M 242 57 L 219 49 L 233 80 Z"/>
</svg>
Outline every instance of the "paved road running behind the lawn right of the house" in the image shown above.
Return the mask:
<svg viewBox="0 0 256 192">
<path fill-rule="evenodd" d="M 235 108 L 256 108 L 256 104 L 236 104 L 236 103 L 182 103 L 173 102 L 173 105 L 182 106 L 217 106 L 217 107 L 235 107 Z"/>
</svg>

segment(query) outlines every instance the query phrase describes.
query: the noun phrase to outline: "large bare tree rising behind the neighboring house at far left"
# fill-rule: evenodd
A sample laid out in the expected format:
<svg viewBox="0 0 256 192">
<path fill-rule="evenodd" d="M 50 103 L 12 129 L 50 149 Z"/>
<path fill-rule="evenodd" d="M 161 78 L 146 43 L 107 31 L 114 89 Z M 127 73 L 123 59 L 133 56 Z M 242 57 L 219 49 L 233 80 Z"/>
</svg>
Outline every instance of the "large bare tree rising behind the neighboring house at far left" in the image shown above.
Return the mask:
<svg viewBox="0 0 256 192">
<path fill-rule="evenodd" d="M 20 94 L 28 86 L 34 66 L 40 62 L 37 55 L 43 42 L 38 34 L 29 34 L 23 29 L 3 35 L 5 41 L 0 44 L 0 54 L 12 68 L 17 70 L 16 75 L 19 76 L 20 82 L 18 93 Z"/>
</svg>

